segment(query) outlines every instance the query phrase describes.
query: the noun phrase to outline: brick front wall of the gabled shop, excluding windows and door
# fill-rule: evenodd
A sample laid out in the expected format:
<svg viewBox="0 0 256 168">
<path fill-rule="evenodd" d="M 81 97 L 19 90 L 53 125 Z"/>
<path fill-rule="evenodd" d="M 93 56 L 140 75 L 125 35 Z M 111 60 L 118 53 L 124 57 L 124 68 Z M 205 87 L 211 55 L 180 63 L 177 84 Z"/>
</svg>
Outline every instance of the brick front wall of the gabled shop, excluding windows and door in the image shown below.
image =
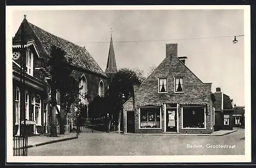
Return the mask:
<svg viewBox="0 0 256 168">
<path fill-rule="evenodd" d="M 166 44 L 166 58 L 141 84 L 134 86 L 134 100 L 130 99 L 124 104 L 124 127 L 125 110 L 136 110 L 139 104 L 146 103 L 206 103 L 206 129 L 181 129 L 181 112 L 179 112 L 179 133 L 212 133 L 210 106 L 211 83 L 203 83 L 192 71 L 190 71 L 177 57 L 178 44 Z M 196 62 L 196 60 L 195 60 Z M 184 92 L 175 93 L 175 78 L 183 77 Z M 167 78 L 167 93 L 158 93 L 158 78 Z M 133 101 L 133 102 L 132 102 Z M 207 106 L 206 106 L 207 107 Z M 162 107 L 161 107 L 162 108 Z M 162 110 L 163 111 L 163 110 Z M 163 133 L 164 120 L 166 116 L 162 113 L 161 129 L 139 129 L 139 115 L 135 112 L 135 133 Z M 124 129 L 125 131 L 125 129 Z"/>
</svg>

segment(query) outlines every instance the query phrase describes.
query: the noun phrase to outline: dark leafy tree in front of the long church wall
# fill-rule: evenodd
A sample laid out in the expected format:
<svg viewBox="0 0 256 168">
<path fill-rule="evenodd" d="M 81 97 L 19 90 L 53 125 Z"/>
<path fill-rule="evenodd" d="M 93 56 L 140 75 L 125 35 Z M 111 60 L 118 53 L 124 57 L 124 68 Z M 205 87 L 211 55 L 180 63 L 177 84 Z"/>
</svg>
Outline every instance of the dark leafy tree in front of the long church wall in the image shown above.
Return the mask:
<svg viewBox="0 0 256 168">
<path fill-rule="evenodd" d="M 73 77 L 74 71 L 70 66 L 71 64 L 72 59 L 66 57 L 64 51 L 53 45 L 47 60 L 47 68 L 51 74 L 51 136 L 57 136 L 55 110 L 60 115 L 60 134 L 64 134 L 67 112 L 79 93 L 80 88 L 78 81 Z M 56 108 L 56 90 L 60 92 L 60 111 Z"/>
</svg>

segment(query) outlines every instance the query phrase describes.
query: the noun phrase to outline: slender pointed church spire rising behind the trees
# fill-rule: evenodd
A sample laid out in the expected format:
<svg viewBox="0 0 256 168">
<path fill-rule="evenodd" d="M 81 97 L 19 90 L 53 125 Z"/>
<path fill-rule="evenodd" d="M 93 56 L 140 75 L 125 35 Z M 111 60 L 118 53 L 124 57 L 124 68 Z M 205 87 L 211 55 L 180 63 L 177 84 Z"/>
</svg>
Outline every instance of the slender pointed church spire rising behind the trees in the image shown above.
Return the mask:
<svg viewBox="0 0 256 168">
<path fill-rule="evenodd" d="M 111 32 L 109 58 L 108 58 L 108 62 L 106 63 L 105 74 L 108 75 L 108 74 L 115 74 L 115 73 L 117 73 L 117 68 L 116 68 L 116 58 L 115 58 L 112 32 Z"/>
</svg>

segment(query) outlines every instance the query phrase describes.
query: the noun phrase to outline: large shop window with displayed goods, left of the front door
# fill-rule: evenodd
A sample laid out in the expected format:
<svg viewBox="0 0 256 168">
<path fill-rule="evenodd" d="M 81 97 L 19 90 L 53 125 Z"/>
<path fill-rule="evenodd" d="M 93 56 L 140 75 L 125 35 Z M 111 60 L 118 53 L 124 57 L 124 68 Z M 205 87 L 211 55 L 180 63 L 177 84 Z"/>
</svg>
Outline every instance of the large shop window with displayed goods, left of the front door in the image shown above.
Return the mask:
<svg viewBox="0 0 256 168">
<path fill-rule="evenodd" d="M 160 128 L 161 108 L 140 108 L 140 128 Z"/>
</svg>

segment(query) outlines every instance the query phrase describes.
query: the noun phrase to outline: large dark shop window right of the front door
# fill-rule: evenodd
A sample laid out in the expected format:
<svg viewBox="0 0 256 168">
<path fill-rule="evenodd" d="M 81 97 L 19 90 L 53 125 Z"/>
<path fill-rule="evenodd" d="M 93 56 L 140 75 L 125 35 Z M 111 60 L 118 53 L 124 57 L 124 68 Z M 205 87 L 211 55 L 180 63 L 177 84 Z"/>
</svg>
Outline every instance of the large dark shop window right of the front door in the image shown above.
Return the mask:
<svg viewBox="0 0 256 168">
<path fill-rule="evenodd" d="M 183 107 L 182 128 L 205 128 L 205 107 Z"/>
</svg>

